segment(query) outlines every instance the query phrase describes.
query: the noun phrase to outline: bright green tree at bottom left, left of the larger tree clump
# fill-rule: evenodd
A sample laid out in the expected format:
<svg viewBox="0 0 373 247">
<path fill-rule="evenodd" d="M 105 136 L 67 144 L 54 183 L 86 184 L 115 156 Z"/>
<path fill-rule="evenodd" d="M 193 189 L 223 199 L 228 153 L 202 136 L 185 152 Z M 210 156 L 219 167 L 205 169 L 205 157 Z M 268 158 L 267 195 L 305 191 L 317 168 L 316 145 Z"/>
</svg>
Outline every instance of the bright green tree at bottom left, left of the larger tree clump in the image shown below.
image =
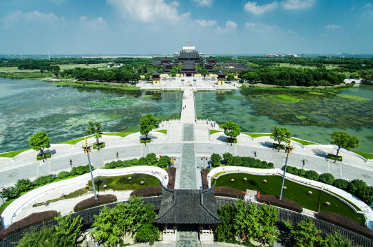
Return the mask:
<svg viewBox="0 0 373 247">
<path fill-rule="evenodd" d="M 58 217 L 54 217 L 54 219 L 58 222 L 58 226 L 54 226 L 57 235 L 75 243 L 83 226 L 81 216 L 72 217 L 72 212 L 70 212 L 69 215 L 61 217 L 61 213 L 58 213 Z"/>
</svg>

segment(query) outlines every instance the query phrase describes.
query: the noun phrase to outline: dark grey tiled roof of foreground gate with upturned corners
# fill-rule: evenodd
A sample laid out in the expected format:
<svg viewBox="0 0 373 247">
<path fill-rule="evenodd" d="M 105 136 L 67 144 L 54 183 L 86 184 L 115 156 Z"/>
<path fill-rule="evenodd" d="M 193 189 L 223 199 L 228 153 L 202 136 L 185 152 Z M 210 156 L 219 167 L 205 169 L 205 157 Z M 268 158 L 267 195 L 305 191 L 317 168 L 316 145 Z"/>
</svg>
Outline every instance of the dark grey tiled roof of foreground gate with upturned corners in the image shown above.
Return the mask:
<svg viewBox="0 0 373 247">
<path fill-rule="evenodd" d="M 172 190 L 162 186 L 158 224 L 220 224 L 215 202 L 215 185 L 206 190 Z"/>
</svg>

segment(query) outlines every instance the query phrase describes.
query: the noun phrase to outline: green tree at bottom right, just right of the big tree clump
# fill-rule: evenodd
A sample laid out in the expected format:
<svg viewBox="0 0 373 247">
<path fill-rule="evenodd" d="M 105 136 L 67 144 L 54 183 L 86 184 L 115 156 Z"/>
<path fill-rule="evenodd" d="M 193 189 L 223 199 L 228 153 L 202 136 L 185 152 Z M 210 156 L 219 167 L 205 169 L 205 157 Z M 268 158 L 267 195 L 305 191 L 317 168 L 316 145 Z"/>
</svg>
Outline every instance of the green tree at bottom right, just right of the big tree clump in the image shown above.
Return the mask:
<svg viewBox="0 0 373 247">
<path fill-rule="evenodd" d="M 295 237 L 295 246 L 316 247 L 323 244 L 321 230 L 317 230 L 311 218 L 302 220 L 296 226 L 290 224 L 289 221 L 285 222 L 285 225 L 289 228 L 292 236 Z"/>
</svg>

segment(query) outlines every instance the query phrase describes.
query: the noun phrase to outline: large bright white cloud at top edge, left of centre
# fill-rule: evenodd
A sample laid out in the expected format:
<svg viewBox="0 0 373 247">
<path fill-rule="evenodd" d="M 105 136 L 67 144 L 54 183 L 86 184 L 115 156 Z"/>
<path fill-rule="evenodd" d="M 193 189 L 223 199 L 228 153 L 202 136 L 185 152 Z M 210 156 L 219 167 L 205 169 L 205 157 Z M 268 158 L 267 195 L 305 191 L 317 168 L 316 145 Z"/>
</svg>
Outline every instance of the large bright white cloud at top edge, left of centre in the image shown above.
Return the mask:
<svg viewBox="0 0 373 247">
<path fill-rule="evenodd" d="M 145 23 L 159 20 L 182 20 L 176 10 L 179 6 L 178 1 L 173 1 L 170 4 L 165 3 L 164 0 L 107 0 L 106 2 L 114 6 L 123 16 L 129 16 L 131 19 Z M 183 17 L 187 16 L 184 14 Z"/>
</svg>

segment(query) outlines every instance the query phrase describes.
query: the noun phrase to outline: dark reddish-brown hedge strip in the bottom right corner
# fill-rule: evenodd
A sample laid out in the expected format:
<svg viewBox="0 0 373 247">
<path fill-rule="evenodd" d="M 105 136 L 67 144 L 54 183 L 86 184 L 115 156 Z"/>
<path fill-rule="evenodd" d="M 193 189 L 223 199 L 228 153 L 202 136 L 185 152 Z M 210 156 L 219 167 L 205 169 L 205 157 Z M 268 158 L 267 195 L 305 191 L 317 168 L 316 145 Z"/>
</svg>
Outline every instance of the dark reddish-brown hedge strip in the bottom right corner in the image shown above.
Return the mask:
<svg viewBox="0 0 373 247">
<path fill-rule="evenodd" d="M 319 212 L 319 215 L 317 215 L 317 218 L 373 239 L 373 232 L 370 228 L 363 226 L 363 224 L 360 224 L 359 222 L 355 222 L 353 219 L 350 219 L 345 215 L 321 211 Z"/>
</svg>

